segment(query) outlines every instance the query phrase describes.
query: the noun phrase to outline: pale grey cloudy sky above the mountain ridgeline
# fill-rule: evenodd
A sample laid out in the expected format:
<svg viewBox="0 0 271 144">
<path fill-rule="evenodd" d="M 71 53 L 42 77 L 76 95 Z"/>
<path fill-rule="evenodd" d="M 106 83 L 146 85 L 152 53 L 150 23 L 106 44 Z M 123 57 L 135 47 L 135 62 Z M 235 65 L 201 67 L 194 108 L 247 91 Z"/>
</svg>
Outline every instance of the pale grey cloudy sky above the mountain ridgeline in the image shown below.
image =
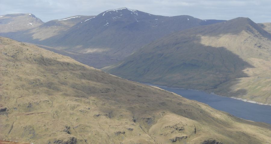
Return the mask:
<svg viewBox="0 0 271 144">
<path fill-rule="evenodd" d="M 248 17 L 256 23 L 271 22 L 271 0 L 0 0 L 0 15 L 31 13 L 47 22 L 123 7 L 164 16 L 220 20 Z"/>
</svg>

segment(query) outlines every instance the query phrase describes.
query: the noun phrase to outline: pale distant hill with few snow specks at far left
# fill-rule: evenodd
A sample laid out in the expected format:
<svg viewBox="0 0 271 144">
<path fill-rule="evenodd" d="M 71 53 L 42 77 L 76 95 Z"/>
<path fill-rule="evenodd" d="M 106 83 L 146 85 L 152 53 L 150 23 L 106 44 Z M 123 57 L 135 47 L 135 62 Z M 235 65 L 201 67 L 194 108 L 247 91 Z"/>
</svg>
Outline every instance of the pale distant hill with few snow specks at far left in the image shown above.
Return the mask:
<svg viewBox="0 0 271 144">
<path fill-rule="evenodd" d="M 0 33 L 27 30 L 43 23 L 33 14 L 6 14 L 0 16 Z"/>
</svg>

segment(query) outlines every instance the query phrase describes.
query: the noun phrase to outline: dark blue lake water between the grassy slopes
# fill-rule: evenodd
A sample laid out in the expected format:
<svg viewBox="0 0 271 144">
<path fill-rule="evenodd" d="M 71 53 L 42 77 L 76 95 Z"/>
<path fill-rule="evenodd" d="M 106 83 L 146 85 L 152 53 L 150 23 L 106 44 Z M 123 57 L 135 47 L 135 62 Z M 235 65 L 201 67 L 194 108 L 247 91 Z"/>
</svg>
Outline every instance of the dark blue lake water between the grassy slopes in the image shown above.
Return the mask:
<svg viewBox="0 0 271 144">
<path fill-rule="evenodd" d="M 208 94 L 203 91 L 175 89 L 160 87 L 164 90 L 174 92 L 185 98 L 196 100 L 217 110 L 222 110 L 236 117 L 257 122 L 271 124 L 271 106 L 249 103 L 233 98 Z"/>
</svg>

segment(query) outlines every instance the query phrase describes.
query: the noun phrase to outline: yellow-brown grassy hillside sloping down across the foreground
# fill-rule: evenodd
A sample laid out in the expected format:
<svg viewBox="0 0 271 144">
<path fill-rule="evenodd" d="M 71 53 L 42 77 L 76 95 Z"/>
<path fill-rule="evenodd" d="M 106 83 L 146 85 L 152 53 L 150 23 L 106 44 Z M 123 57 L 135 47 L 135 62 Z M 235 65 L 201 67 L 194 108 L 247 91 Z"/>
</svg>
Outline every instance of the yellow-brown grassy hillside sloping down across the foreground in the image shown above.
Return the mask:
<svg viewBox="0 0 271 144">
<path fill-rule="evenodd" d="M 269 143 L 234 117 L 70 57 L 0 38 L 0 139 L 58 144 Z"/>
</svg>

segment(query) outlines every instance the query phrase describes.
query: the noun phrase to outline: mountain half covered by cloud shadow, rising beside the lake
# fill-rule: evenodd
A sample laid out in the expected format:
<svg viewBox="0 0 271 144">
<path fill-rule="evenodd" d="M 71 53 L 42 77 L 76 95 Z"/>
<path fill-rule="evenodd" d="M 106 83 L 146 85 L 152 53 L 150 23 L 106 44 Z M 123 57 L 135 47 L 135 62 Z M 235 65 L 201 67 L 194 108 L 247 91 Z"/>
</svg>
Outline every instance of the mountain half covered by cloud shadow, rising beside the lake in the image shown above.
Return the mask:
<svg viewBox="0 0 271 144">
<path fill-rule="evenodd" d="M 133 81 L 271 104 L 271 34 L 249 18 L 183 30 L 106 72 Z"/>
</svg>

